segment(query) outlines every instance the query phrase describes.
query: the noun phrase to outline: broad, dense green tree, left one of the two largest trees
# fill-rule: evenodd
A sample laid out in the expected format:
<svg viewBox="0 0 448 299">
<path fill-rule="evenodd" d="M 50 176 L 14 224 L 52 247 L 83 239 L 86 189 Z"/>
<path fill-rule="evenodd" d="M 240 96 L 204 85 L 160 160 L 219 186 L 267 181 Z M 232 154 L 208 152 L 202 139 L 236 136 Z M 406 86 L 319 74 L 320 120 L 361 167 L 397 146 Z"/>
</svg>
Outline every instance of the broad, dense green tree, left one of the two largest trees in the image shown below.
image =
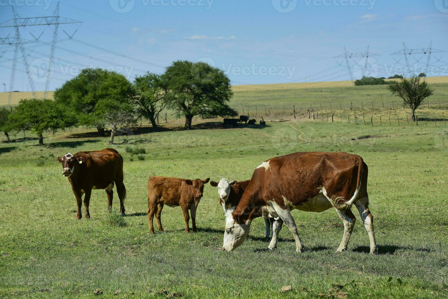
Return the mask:
<svg viewBox="0 0 448 299">
<path fill-rule="evenodd" d="M 134 95 L 132 84 L 123 75 L 101 68 L 85 68 L 54 93 L 57 103 L 70 107 L 79 123 L 96 127 L 104 136 L 104 117 L 111 107 L 129 103 Z"/>
</svg>

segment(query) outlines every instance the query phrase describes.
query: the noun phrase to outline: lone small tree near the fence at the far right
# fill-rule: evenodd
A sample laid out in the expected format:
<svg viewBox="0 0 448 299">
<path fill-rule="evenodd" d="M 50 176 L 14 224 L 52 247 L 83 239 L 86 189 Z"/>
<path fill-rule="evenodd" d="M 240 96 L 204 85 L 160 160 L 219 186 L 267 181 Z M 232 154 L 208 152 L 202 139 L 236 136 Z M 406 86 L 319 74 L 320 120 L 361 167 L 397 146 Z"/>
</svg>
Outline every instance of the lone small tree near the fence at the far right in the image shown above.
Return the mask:
<svg viewBox="0 0 448 299">
<path fill-rule="evenodd" d="M 403 99 L 411 108 L 412 121 L 415 121 L 415 110 L 423 103 L 423 100 L 433 94 L 426 81 L 420 82 L 420 77 L 402 78 L 400 82 L 393 81 L 388 86 L 392 95 Z"/>
</svg>

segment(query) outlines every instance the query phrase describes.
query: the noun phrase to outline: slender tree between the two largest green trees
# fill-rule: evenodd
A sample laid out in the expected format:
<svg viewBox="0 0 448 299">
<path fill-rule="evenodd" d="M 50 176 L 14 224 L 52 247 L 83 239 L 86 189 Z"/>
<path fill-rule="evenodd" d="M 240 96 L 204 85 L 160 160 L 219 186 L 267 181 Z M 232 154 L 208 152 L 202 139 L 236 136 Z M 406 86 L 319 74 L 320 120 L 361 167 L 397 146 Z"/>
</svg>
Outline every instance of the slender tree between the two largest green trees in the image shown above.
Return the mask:
<svg viewBox="0 0 448 299">
<path fill-rule="evenodd" d="M 157 128 L 155 120 L 168 104 L 166 81 L 160 75 L 148 72 L 135 78 L 134 89 L 132 103 L 138 115 L 151 121 L 152 126 Z"/>
</svg>

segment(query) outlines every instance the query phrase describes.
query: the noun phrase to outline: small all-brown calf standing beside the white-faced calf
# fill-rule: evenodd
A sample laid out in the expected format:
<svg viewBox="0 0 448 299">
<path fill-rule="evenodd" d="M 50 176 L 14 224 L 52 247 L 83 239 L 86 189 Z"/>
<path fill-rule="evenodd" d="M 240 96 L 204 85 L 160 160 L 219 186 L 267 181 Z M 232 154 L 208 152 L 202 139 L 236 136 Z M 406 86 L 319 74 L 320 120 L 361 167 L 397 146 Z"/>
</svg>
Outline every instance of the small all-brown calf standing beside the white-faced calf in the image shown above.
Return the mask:
<svg viewBox="0 0 448 299">
<path fill-rule="evenodd" d="M 151 176 L 148 179 L 148 222 L 149 231 L 154 234 L 154 226 L 152 220 L 157 219 L 157 227 L 159 231 L 164 231 L 162 222 L 160 222 L 160 214 L 164 205 L 170 207 L 181 206 L 185 219 L 185 232 L 190 232 L 190 215 L 193 222 L 193 231 L 196 232 L 196 209 L 202 197 L 204 184 L 207 184 L 209 178 L 205 180 L 195 179 L 177 179 L 164 176 Z"/>
</svg>

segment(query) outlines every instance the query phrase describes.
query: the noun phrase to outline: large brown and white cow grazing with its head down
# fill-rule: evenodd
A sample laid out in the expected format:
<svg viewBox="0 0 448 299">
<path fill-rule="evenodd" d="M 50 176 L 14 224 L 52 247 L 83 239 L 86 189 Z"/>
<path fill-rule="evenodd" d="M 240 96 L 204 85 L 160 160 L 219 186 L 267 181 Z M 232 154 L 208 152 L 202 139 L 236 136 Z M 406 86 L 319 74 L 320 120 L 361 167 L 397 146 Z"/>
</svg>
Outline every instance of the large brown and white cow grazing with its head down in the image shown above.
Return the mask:
<svg viewBox="0 0 448 299">
<path fill-rule="evenodd" d="M 366 163 L 354 154 L 294 153 L 264 161 L 255 169 L 237 208 L 226 218 L 223 250 L 240 246 L 252 220 L 268 211 L 285 222 L 294 235 L 296 251 L 302 252 L 291 210 L 322 212 L 331 207 L 344 223 L 344 235 L 336 251 L 346 250 L 356 220 L 350 209 L 354 204 L 369 235 L 370 253 L 377 253 L 367 176 Z"/>
</svg>

